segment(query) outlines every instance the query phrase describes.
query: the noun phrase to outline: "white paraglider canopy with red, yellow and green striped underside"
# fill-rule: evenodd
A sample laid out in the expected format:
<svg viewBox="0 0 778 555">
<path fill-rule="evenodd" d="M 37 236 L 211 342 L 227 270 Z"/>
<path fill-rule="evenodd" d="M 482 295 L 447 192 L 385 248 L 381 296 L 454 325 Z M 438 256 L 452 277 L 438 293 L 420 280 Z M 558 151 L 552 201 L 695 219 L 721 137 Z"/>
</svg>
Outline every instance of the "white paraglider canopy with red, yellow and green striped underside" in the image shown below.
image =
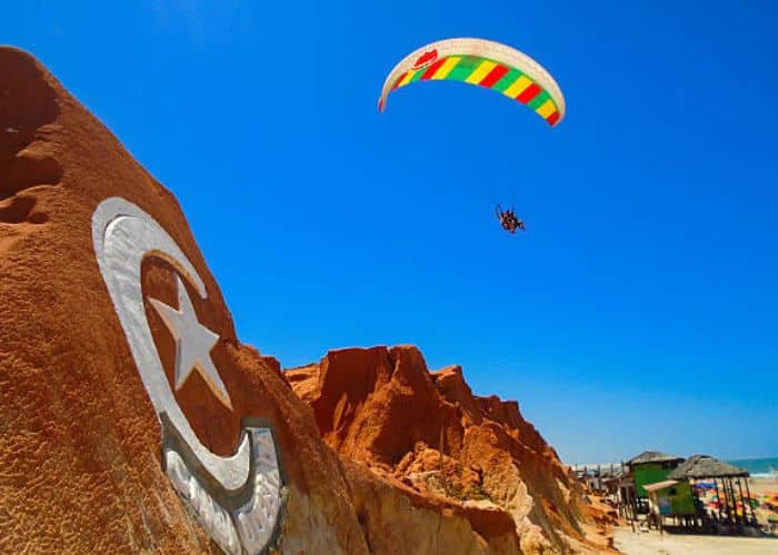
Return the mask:
<svg viewBox="0 0 778 555">
<path fill-rule="evenodd" d="M 565 98 L 548 71 L 523 52 L 483 39 L 447 39 L 408 54 L 383 83 L 378 108 L 391 91 L 417 81 L 461 81 L 527 104 L 550 125 L 565 118 Z"/>
</svg>

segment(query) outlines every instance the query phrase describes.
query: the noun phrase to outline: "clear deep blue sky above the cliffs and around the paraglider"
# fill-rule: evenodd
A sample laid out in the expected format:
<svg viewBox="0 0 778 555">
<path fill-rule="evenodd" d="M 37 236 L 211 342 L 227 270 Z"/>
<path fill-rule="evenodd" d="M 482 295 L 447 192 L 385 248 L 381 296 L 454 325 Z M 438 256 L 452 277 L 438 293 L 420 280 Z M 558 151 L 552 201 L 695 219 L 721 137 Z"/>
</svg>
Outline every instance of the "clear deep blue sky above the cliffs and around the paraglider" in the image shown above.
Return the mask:
<svg viewBox="0 0 778 555">
<path fill-rule="evenodd" d="M 0 42 L 174 192 L 242 341 L 419 345 L 568 463 L 778 454 L 778 3 L 112 3 L 16 2 Z M 456 83 L 379 115 L 457 36 L 538 59 L 566 120 Z"/>
</svg>

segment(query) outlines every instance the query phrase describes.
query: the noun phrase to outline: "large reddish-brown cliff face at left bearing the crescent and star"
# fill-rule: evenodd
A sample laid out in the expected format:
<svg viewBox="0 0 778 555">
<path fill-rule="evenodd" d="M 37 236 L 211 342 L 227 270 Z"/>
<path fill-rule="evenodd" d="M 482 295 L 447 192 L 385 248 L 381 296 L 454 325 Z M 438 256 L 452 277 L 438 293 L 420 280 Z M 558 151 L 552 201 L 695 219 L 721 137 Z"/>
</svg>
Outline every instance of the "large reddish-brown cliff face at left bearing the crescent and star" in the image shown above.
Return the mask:
<svg viewBox="0 0 778 555">
<path fill-rule="evenodd" d="M 109 291 L 111 271 L 98 262 L 104 245 L 93 231 L 116 235 L 123 225 L 110 214 L 113 223 L 98 222 L 98 206 L 111 198 L 124 203 L 120 212 L 140 211 L 180 249 L 172 258 L 146 252 L 137 264 L 142 300 L 130 312 L 148 322 L 152 341 L 141 351 L 158 355 L 157 384 L 141 376 L 142 353 L 131 350 L 120 321 L 117 299 L 127 296 L 131 272 L 113 272 L 117 296 Z M 138 246 L 133 231 L 127 233 L 124 243 L 114 243 Z M 183 259 L 201 291 L 181 270 Z M 199 370 L 177 387 L 176 332 L 152 300 L 181 310 L 181 286 L 198 325 L 215 337 L 203 356 L 212 360 L 229 406 Z M 189 458 L 191 467 L 198 457 L 176 435 L 181 430 L 162 425 L 173 406 L 193 432 L 189 444 L 203 446 L 217 462 L 238 452 L 245 418 L 268 423 L 285 497 L 279 518 L 262 518 L 278 525 L 273 545 L 280 551 L 368 552 L 337 455 L 321 442 L 310 408 L 279 365 L 236 339 L 172 194 L 33 58 L 8 48 L 0 49 L 0 552 L 238 549 L 235 536 L 213 533 L 226 515 L 202 494 L 217 492 L 212 476 L 189 468 L 199 472 L 198 484 L 191 481 L 181 461 Z M 160 408 L 152 397 L 164 389 L 170 398 Z M 266 451 L 263 442 L 270 442 Z M 168 456 L 171 445 L 179 453 Z M 272 468 L 272 438 L 258 436 L 255 445 L 271 455 Z M 248 518 L 255 490 L 243 487 L 247 475 L 237 476 L 240 498 L 227 500 L 233 504 L 227 508 L 242 507 Z M 222 482 L 229 483 L 229 472 Z M 273 484 L 265 486 L 271 491 Z M 212 497 L 228 504 L 223 495 Z M 213 519 L 210 528 L 202 515 Z"/>
</svg>

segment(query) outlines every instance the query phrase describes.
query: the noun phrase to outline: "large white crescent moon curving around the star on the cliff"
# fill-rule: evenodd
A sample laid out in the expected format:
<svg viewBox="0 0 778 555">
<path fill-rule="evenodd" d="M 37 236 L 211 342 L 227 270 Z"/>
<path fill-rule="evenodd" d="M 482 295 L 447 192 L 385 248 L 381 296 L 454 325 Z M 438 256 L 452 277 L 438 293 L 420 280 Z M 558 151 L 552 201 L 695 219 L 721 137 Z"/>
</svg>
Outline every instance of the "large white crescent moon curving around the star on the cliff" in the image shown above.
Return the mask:
<svg viewBox="0 0 778 555">
<path fill-rule="evenodd" d="M 216 455 L 198 440 L 176 402 L 151 336 L 143 307 L 141 262 L 148 254 L 164 259 L 206 299 L 202 280 L 170 235 L 149 214 L 123 199 L 100 203 L 92 215 L 92 240 L 100 272 L 158 416 L 167 413 L 181 438 L 221 487 L 238 491 L 249 480 L 249 436 L 243 434 L 238 451 L 229 457 Z"/>
</svg>

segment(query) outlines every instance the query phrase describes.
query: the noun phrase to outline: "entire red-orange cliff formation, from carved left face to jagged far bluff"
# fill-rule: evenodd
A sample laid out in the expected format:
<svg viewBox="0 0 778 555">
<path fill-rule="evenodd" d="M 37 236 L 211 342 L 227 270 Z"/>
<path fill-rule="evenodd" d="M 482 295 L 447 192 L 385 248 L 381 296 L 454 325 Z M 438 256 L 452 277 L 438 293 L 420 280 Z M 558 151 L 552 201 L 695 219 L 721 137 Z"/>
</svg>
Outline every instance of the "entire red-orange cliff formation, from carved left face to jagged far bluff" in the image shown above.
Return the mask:
<svg viewBox="0 0 778 555">
<path fill-rule="evenodd" d="M 604 531 L 460 370 L 377 347 L 283 372 L 242 345 L 173 195 L 0 48 L 0 552 L 567 553 Z"/>
</svg>

